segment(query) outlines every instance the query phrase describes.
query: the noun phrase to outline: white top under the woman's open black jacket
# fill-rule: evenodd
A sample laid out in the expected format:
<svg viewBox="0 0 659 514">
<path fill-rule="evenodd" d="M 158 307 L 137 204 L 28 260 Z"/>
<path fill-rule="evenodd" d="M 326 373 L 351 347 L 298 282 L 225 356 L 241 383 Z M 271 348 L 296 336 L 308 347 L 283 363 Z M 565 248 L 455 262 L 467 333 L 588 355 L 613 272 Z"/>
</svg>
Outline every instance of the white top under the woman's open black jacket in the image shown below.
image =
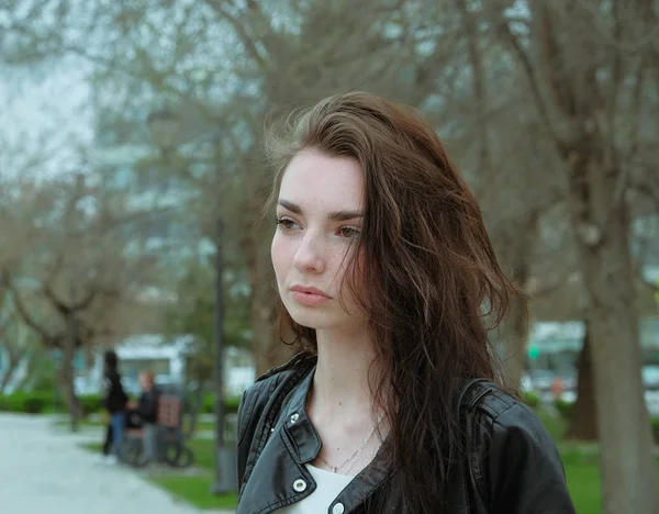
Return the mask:
<svg viewBox="0 0 659 514">
<path fill-rule="evenodd" d="M 305 465 L 305 467 L 316 483 L 315 491 L 298 503 L 278 509 L 275 511 L 277 514 L 325 513 L 330 510 L 330 506 L 334 503 L 336 496 L 338 496 L 346 485 L 355 478 L 349 474 L 338 474 L 333 473 L 332 471 L 325 471 L 324 469 L 315 468 L 311 465 Z M 298 492 L 302 492 L 308 487 L 309 484 L 304 483 L 302 478 L 297 480 L 293 484 L 293 489 Z M 333 514 L 343 514 L 344 506 L 340 503 L 337 503 L 333 506 L 331 512 Z"/>
</svg>

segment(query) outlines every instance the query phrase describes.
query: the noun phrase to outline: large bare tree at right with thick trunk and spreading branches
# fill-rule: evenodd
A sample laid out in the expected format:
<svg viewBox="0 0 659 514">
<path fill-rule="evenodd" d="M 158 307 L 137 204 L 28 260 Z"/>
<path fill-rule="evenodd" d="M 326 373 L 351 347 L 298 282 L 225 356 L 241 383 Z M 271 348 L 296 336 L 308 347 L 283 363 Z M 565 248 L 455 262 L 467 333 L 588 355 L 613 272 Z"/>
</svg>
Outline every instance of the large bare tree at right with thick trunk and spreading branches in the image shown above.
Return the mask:
<svg viewBox="0 0 659 514">
<path fill-rule="evenodd" d="M 596 1 L 530 1 L 528 16 L 502 14 L 492 22 L 565 163 L 592 336 L 606 513 L 658 506 L 625 194 L 651 126 L 650 119 L 629 114 L 652 102 L 647 88 L 656 85 L 648 58 L 627 49 L 649 33 L 644 3 L 613 2 L 607 11 Z"/>
</svg>

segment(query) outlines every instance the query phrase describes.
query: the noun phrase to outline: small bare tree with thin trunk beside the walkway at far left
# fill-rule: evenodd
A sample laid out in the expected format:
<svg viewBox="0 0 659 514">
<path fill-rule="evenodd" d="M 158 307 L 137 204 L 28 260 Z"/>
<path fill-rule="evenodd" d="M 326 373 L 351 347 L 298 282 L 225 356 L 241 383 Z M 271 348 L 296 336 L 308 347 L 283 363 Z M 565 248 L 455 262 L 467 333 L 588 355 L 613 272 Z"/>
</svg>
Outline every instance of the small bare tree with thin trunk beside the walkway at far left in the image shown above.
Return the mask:
<svg viewBox="0 0 659 514">
<path fill-rule="evenodd" d="M 80 414 L 75 351 L 112 342 L 145 322 L 148 309 L 139 292 L 149 284 L 153 258 L 127 244 L 138 239 L 129 225 L 135 215 L 108 210 L 112 202 L 82 175 L 75 183 L 55 180 L 35 188 L 45 190 L 42 202 L 24 209 L 23 222 L 36 226 L 38 236 L 30 255 L 4 267 L 5 284 L 44 349 L 62 353 L 58 383 L 75 421 Z M 15 202 L 25 206 L 25 200 Z M 22 232 L 5 236 L 18 241 Z"/>
</svg>

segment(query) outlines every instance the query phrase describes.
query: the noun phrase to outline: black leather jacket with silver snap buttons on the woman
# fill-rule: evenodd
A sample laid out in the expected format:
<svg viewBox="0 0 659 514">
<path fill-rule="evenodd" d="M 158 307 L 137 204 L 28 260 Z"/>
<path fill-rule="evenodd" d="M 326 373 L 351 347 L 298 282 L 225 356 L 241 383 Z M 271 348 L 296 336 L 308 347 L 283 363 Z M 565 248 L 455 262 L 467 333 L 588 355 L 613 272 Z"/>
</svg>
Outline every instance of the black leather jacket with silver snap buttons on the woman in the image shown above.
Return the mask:
<svg viewBox="0 0 659 514">
<path fill-rule="evenodd" d="M 321 450 L 305 409 L 314 369 L 315 359 L 298 356 L 244 393 L 238 410 L 236 514 L 273 512 L 314 491 L 304 467 Z M 468 420 L 471 451 L 462 469 L 451 469 L 447 513 L 576 513 L 558 450 L 527 406 L 490 382 L 477 382 L 463 393 L 460 409 Z M 373 503 L 386 504 L 389 513 L 409 513 L 400 492 L 380 487 L 391 477 L 376 457 L 327 513 L 381 514 L 381 507 L 369 507 Z M 377 498 L 380 494 L 387 498 Z"/>
</svg>

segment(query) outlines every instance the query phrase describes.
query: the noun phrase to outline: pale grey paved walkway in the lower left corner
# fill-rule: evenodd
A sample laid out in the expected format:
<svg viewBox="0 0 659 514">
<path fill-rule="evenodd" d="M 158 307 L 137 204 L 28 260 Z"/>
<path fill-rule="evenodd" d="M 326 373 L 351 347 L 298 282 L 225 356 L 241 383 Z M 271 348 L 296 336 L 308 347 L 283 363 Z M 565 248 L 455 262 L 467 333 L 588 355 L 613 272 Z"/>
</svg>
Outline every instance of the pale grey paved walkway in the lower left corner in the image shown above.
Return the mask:
<svg viewBox="0 0 659 514">
<path fill-rule="evenodd" d="M 203 512 L 175 500 L 129 468 L 100 462 L 98 455 L 79 447 L 86 440 L 89 433 L 66 434 L 48 416 L 0 414 L 0 513 Z"/>
</svg>

